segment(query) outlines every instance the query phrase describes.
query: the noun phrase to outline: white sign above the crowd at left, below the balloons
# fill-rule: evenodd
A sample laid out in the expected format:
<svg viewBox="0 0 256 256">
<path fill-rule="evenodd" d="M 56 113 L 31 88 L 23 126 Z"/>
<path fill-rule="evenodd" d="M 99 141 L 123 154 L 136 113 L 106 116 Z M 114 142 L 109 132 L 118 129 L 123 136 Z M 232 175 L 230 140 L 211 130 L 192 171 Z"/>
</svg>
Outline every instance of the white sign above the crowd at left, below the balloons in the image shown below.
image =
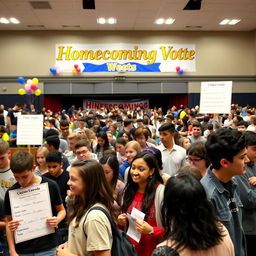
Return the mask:
<svg viewBox="0 0 256 256">
<path fill-rule="evenodd" d="M 43 115 L 18 116 L 17 145 L 42 145 L 43 120 Z"/>
</svg>

